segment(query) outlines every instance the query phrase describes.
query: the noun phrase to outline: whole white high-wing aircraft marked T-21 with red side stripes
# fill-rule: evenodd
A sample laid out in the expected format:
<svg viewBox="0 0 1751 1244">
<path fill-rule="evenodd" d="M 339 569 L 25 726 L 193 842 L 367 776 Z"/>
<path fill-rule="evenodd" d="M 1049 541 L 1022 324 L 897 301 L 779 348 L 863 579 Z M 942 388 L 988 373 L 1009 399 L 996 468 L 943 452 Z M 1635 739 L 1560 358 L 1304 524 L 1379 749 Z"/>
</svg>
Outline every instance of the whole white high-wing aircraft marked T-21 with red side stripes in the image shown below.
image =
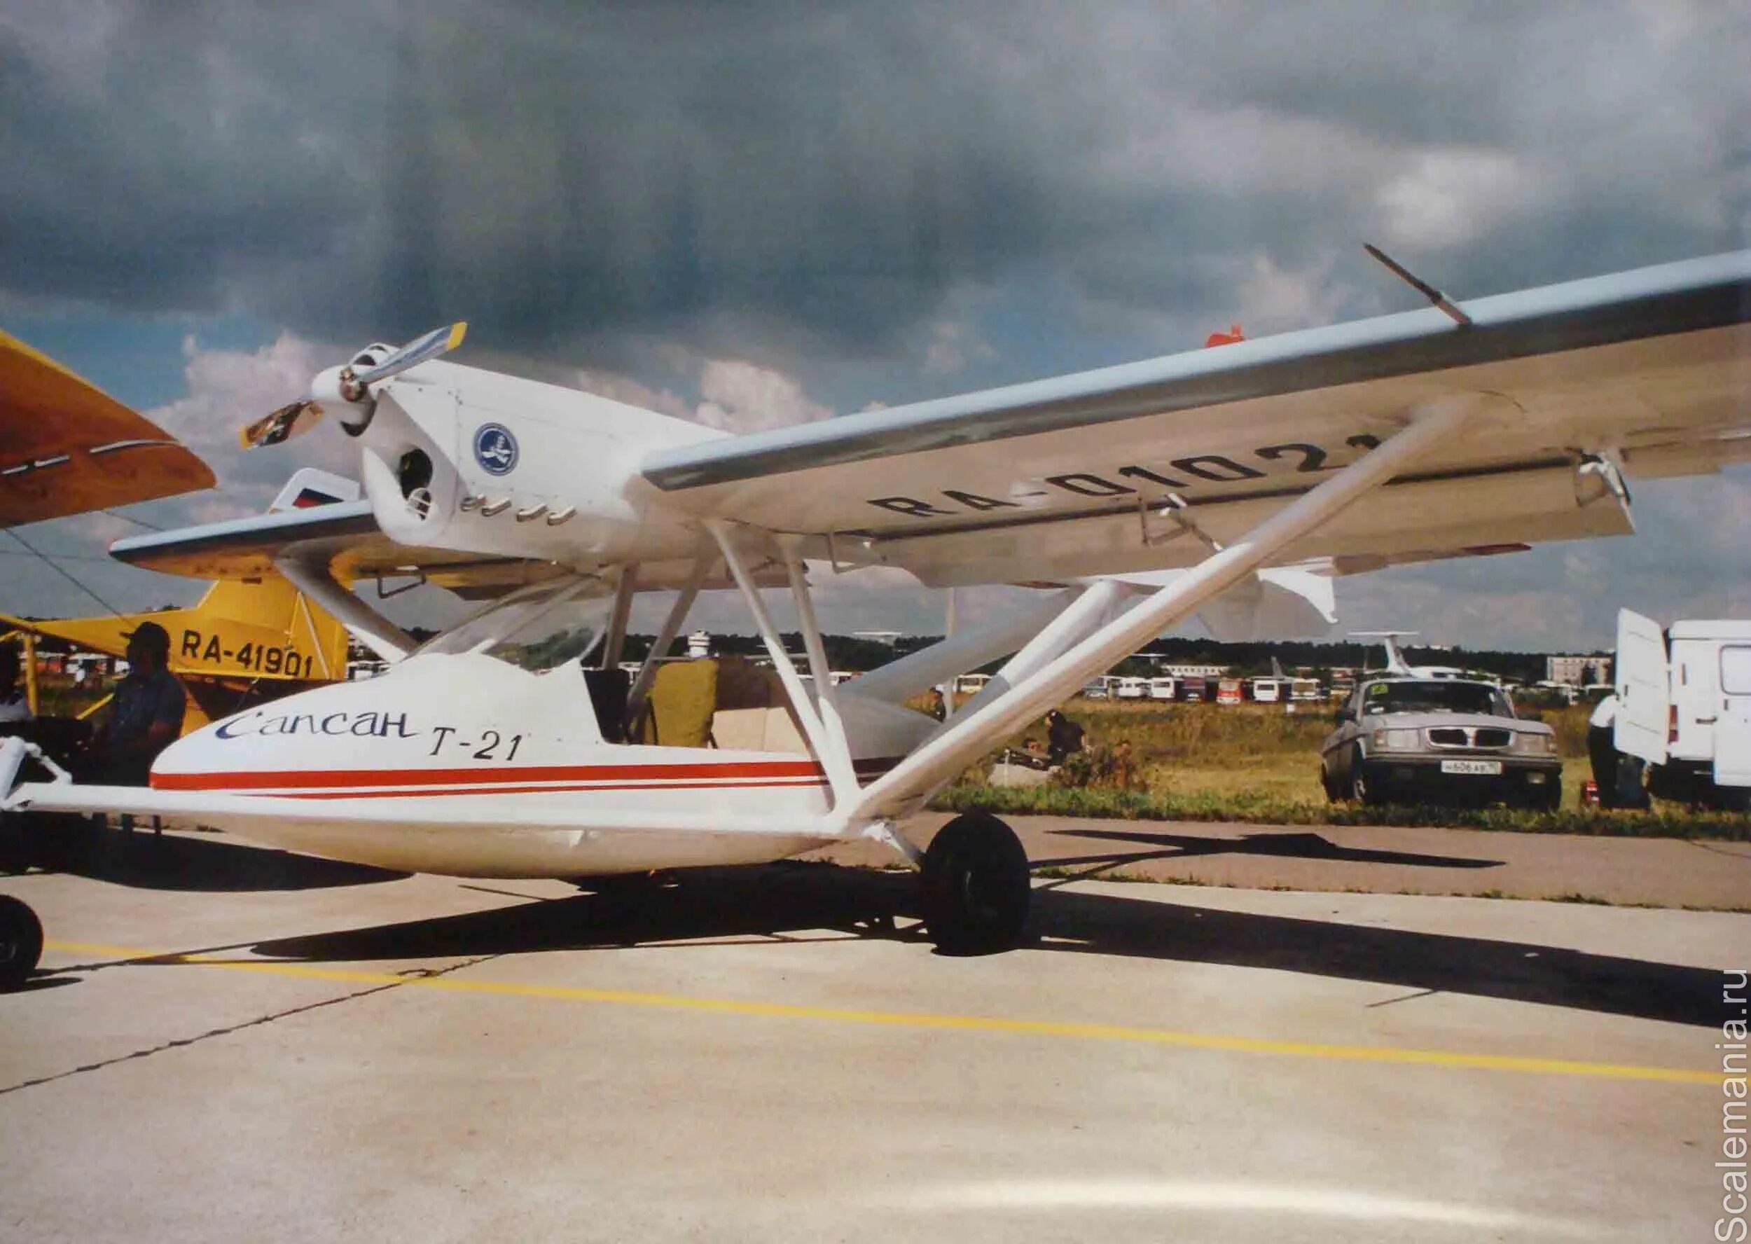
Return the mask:
<svg viewBox="0 0 1751 1244">
<path fill-rule="evenodd" d="M 151 788 L 14 785 L 26 748 L 9 741 L 0 806 L 499 878 L 868 836 L 921 864 L 939 944 L 1010 946 L 1028 908 L 1014 834 L 963 816 L 921 853 L 898 825 L 1114 661 L 1233 589 L 1257 599 L 1262 573 L 1620 536 L 1627 477 L 1751 459 L 1751 251 L 1464 305 L 1422 289 L 1434 305 L 1408 314 L 748 436 L 440 361 L 461 326 L 373 345 L 245 429 L 273 443 L 329 412 L 359 443 L 364 499 L 112 552 L 217 578 L 277 568 L 389 673 L 189 734 Z M 833 687 L 805 559 L 1059 590 Z M 394 576 L 485 604 L 413 648 L 345 587 Z M 655 654 L 727 583 L 783 696 L 720 697 L 692 739 L 707 746 L 676 746 Z M 765 585 L 790 590 L 812 678 Z M 679 597 L 629 685 L 627 613 L 651 589 Z M 904 706 L 1007 654 L 947 722 Z"/>
</svg>

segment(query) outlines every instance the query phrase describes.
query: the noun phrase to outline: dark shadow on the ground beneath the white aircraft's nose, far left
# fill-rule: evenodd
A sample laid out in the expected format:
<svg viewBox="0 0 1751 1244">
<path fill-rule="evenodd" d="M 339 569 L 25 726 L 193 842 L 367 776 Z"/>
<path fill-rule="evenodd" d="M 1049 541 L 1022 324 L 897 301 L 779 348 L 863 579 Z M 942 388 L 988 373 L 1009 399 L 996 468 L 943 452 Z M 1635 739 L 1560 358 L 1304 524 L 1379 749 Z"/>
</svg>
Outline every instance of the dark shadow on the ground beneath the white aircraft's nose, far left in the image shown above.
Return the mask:
<svg viewBox="0 0 1751 1244">
<path fill-rule="evenodd" d="M 138 890 L 324 890 L 408 876 L 245 843 L 107 829 L 77 816 L 40 831 L 30 853 L 37 866 L 54 873 Z"/>
</svg>

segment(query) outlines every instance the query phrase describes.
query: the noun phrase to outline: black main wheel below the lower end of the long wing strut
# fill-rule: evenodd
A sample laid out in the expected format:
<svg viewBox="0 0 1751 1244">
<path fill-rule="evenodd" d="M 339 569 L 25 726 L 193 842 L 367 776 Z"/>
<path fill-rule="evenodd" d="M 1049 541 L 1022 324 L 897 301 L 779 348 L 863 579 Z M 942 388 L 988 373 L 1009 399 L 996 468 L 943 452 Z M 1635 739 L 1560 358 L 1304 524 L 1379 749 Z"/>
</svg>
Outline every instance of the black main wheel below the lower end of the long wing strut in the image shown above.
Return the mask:
<svg viewBox="0 0 1751 1244">
<path fill-rule="evenodd" d="M 1028 852 L 988 813 L 944 825 L 925 852 L 925 927 L 946 955 L 993 955 L 1021 943 L 1028 923 Z"/>
</svg>

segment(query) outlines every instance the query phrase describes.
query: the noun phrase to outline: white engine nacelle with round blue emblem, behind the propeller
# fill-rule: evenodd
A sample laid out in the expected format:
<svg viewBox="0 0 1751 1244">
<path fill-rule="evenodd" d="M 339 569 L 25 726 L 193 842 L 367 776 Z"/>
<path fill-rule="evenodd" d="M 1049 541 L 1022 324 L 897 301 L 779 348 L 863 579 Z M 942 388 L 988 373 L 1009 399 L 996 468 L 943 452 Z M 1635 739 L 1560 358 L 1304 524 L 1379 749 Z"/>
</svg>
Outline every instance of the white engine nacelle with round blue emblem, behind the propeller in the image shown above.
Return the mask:
<svg viewBox="0 0 1751 1244">
<path fill-rule="evenodd" d="M 690 555 L 695 536 L 651 505 L 639 463 L 718 435 L 576 389 L 424 363 L 376 391 L 361 477 L 376 522 L 404 545 L 573 566 L 658 561 Z"/>
</svg>

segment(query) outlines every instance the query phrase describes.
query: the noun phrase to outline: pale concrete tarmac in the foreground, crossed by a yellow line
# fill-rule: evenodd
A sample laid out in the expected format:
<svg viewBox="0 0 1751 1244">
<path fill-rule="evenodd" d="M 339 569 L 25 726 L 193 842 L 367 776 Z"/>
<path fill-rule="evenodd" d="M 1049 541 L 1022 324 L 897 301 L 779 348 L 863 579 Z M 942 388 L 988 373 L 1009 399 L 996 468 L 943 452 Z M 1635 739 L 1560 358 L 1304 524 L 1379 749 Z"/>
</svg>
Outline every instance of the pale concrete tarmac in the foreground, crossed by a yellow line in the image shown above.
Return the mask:
<svg viewBox="0 0 1751 1244">
<path fill-rule="evenodd" d="M 1187 827 L 1180 827 L 1187 829 Z M 1187 829 L 1187 832 L 1191 832 Z M 0 880 L 18 1240 L 1681 1240 L 1751 916 L 912 878 L 457 881 L 214 836 Z M 1742 990 L 1740 990 L 1742 995 Z"/>
</svg>

